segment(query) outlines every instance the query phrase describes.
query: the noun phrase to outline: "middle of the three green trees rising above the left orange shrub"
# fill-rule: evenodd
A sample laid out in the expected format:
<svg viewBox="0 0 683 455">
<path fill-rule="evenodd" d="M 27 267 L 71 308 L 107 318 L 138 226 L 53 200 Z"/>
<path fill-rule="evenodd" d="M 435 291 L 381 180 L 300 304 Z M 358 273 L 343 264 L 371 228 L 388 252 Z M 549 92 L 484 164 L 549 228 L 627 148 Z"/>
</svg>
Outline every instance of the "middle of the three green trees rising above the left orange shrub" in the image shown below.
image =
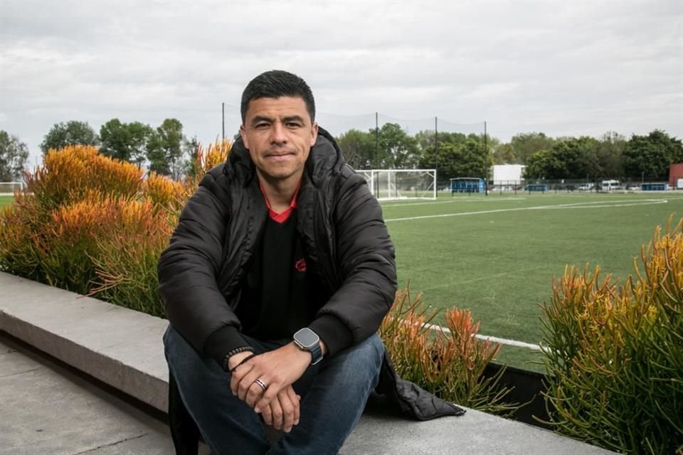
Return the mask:
<svg viewBox="0 0 683 455">
<path fill-rule="evenodd" d="M 100 153 L 142 167 L 152 132 L 152 127 L 141 122 L 122 123 L 111 119 L 100 128 Z"/>
</svg>

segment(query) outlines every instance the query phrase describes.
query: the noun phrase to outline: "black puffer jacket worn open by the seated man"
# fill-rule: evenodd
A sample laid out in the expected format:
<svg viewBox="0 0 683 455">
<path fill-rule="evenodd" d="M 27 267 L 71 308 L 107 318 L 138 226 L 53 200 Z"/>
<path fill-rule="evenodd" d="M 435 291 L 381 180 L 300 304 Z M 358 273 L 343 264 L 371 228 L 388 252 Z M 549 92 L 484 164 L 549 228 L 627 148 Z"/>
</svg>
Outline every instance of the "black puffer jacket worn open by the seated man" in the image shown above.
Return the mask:
<svg viewBox="0 0 683 455">
<path fill-rule="evenodd" d="M 305 165 L 297 215 L 307 264 L 329 293 L 311 327 L 327 321 L 346 331 L 343 341 L 325 340 L 334 355 L 378 330 L 396 294 L 396 264 L 379 203 L 323 129 Z M 240 328 L 233 310 L 267 216 L 255 166 L 238 140 L 226 164 L 203 177 L 159 260 L 169 321 L 196 350 L 206 352 L 218 329 Z M 398 378 L 388 358 L 379 389 L 418 419 L 462 413 Z"/>
</svg>

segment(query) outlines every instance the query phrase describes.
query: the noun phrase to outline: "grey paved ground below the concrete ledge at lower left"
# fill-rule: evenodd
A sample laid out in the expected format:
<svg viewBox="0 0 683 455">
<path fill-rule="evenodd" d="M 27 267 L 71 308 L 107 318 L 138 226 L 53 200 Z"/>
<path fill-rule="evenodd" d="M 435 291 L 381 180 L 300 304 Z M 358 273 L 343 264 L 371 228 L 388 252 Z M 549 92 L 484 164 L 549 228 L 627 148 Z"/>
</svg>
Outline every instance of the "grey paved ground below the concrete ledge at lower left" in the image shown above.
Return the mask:
<svg viewBox="0 0 683 455">
<path fill-rule="evenodd" d="M 166 425 L 0 335 L 0 454 L 171 454 Z"/>
</svg>

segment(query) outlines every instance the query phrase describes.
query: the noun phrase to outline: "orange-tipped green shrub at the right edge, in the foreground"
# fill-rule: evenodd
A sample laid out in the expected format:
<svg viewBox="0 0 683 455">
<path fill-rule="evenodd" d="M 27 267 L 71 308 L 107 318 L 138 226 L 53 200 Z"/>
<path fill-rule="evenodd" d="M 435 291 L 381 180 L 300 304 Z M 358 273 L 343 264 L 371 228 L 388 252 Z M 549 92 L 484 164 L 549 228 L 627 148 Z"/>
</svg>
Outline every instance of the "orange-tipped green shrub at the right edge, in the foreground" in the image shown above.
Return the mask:
<svg viewBox="0 0 683 455">
<path fill-rule="evenodd" d="M 545 395 L 558 432 L 628 454 L 683 453 L 683 218 L 618 286 L 573 267 L 544 304 Z"/>
</svg>

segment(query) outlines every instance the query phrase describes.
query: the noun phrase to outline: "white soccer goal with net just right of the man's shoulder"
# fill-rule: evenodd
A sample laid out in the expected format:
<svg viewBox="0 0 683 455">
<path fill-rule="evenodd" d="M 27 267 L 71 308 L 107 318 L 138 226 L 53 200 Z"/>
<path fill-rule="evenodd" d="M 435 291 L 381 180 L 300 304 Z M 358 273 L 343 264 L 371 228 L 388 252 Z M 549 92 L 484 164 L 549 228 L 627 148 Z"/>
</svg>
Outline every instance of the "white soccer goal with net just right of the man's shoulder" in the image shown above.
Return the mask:
<svg viewBox="0 0 683 455">
<path fill-rule="evenodd" d="M 368 169 L 364 176 L 378 200 L 436 199 L 436 169 Z"/>
</svg>

